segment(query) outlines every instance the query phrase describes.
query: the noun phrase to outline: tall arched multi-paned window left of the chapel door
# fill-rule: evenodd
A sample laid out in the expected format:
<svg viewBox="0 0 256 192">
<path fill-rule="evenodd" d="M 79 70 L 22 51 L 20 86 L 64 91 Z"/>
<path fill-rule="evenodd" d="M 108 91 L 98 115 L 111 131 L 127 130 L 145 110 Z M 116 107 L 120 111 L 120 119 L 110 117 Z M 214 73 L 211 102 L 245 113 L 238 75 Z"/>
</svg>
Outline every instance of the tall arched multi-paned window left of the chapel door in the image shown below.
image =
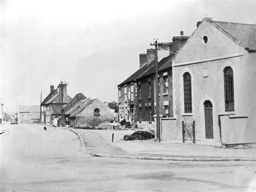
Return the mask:
<svg viewBox="0 0 256 192">
<path fill-rule="evenodd" d="M 184 83 L 184 112 L 192 113 L 192 90 L 191 90 L 191 75 L 186 72 L 183 75 Z"/>
</svg>

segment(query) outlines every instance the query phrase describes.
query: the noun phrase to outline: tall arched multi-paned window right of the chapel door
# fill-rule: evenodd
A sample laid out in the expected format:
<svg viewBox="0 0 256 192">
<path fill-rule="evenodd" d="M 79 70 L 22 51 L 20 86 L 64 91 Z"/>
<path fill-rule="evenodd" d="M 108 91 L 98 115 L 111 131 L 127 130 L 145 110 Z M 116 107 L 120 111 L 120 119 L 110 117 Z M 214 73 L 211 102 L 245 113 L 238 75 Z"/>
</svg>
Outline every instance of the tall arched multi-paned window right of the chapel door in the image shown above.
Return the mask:
<svg viewBox="0 0 256 192">
<path fill-rule="evenodd" d="M 231 67 L 224 68 L 225 111 L 234 111 L 234 78 Z"/>
</svg>

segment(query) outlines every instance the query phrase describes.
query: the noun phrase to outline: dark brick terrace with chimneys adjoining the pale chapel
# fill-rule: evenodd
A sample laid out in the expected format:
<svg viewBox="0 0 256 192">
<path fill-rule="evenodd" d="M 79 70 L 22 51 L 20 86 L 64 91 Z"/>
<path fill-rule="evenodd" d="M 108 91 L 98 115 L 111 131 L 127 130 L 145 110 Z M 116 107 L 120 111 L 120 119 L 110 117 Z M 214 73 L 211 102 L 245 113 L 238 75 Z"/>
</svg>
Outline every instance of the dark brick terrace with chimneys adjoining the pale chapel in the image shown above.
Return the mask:
<svg viewBox="0 0 256 192">
<path fill-rule="evenodd" d="M 158 62 L 159 111 L 165 118 L 173 116 L 171 60 L 174 53 L 187 39 L 186 36 L 173 37 L 172 43 L 163 43 L 159 46 L 159 53 L 167 50 L 167 55 L 169 55 Z M 154 102 L 154 98 L 156 98 L 154 56 L 154 49 L 148 49 L 147 53 L 140 54 L 140 68 L 118 85 L 119 116 L 123 116 L 126 120 L 132 116 L 139 127 L 150 129 L 155 127 L 153 123 L 156 106 L 156 102 Z"/>
</svg>

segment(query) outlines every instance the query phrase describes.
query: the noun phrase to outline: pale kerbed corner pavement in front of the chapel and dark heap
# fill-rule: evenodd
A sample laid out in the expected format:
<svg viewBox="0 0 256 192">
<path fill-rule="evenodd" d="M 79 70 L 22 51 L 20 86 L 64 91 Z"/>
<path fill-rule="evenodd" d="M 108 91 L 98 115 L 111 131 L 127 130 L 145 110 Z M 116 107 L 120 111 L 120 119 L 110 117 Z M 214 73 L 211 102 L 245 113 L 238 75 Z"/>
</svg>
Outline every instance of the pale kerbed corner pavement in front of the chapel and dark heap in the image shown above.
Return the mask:
<svg viewBox="0 0 256 192">
<path fill-rule="evenodd" d="M 72 128 L 71 128 L 72 129 Z M 85 150 L 92 156 L 126 159 L 172 161 L 256 161 L 256 148 L 221 148 L 180 141 L 124 141 L 126 134 L 136 130 L 72 129 L 84 142 Z M 112 134 L 114 133 L 113 143 Z"/>
</svg>

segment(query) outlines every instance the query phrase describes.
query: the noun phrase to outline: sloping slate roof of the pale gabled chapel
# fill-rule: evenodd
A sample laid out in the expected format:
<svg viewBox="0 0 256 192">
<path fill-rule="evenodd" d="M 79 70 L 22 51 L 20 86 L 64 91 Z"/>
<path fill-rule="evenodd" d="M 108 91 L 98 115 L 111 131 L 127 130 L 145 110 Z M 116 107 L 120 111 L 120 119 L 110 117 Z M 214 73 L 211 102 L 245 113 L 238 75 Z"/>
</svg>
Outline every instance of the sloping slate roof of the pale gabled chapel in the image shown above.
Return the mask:
<svg viewBox="0 0 256 192">
<path fill-rule="evenodd" d="M 206 19 L 245 49 L 256 51 L 256 25 Z"/>
</svg>

